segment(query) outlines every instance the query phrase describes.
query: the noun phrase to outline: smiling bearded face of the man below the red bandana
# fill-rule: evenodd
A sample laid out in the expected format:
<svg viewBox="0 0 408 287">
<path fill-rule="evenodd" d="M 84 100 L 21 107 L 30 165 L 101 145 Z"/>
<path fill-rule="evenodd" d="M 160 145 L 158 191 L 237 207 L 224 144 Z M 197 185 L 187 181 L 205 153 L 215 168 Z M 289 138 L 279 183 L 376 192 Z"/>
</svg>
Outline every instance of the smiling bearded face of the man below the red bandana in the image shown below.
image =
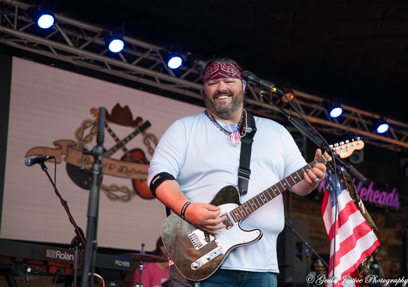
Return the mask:
<svg viewBox="0 0 408 287">
<path fill-rule="evenodd" d="M 245 82 L 241 79 L 210 79 L 204 84 L 204 101 L 208 110 L 219 117 L 229 119 L 241 113 Z"/>
</svg>

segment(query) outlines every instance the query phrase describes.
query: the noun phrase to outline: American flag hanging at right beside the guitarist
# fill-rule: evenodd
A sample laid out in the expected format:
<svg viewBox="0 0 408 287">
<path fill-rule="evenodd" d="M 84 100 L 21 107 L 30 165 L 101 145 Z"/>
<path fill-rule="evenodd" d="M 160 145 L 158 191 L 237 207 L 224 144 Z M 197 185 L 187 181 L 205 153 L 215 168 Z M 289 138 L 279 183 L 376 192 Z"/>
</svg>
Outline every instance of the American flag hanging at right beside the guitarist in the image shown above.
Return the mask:
<svg viewBox="0 0 408 287">
<path fill-rule="evenodd" d="M 337 184 L 338 214 L 336 215 L 335 184 Z M 369 224 L 352 201 L 348 190 L 336 178 L 331 169 L 326 172 L 326 191 L 321 204 L 323 221 L 329 235 L 330 266 L 328 286 L 359 286 L 357 267 L 378 248 L 380 242 Z M 336 222 L 336 246 L 334 246 L 334 222 Z M 335 252 L 333 277 L 333 251 Z M 350 284 L 352 283 L 352 284 Z"/>
</svg>

